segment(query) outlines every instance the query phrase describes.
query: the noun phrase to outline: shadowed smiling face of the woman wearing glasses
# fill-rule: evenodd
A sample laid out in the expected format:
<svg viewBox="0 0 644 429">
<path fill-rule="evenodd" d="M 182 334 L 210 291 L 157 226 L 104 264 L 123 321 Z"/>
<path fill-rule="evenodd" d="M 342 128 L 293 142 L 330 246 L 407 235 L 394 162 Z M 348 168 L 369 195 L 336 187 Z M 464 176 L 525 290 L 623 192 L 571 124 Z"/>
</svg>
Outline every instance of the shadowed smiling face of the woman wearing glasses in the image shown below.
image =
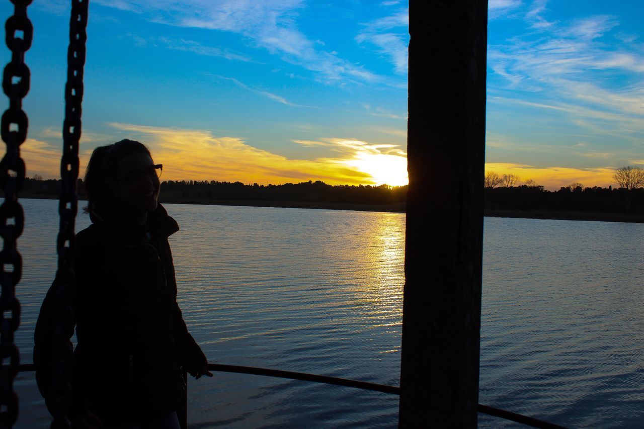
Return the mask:
<svg viewBox="0 0 644 429">
<path fill-rule="evenodd" d="M 154 162 L 147 153 L 133 153 L 118 162 L 112 193 L 132 213 L 156 209 L 160 188 Z"/>
</svg>

